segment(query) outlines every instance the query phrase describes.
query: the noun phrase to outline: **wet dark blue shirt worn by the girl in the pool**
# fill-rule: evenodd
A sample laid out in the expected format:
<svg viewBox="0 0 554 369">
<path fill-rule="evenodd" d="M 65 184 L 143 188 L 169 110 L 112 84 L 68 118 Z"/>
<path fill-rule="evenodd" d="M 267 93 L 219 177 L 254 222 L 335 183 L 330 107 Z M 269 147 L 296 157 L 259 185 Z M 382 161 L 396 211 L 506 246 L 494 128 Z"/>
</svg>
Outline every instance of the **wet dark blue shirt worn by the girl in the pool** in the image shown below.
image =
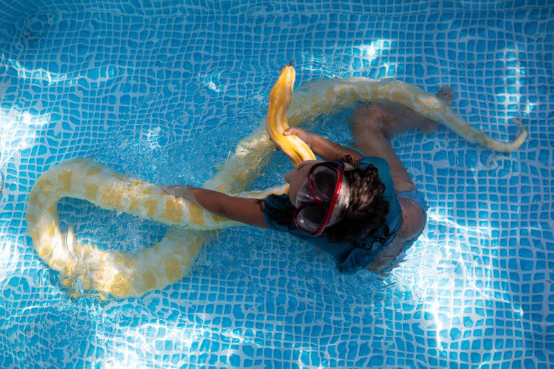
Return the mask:
<svg viewBox="0 0 554 369">
<path fill-rule="evenodd" d="M 391 177 L 391 170 L 386 160 L 378 156 L 366 156 L 364 159 L 358 161 L 358 164 L 359 168 L 362 170 L 367 168 L 370 164 L 375 165 L 379 174 L 379 179 L 381 179 L 385 186 L 383 193 L 384 198 L 389 204 L 389 210 L 385 221 L 386 226 L 388 226 L 389 235 L 384 242 L 381 243 L 377 241 L 379 238 L 382 238 L 379 236 L 386 234 L 386 226 L 384 225 L 377 229 L 373 235 L 368 235 L 364 237 L 364 239 L 359 240 L 360 244 L 367 244 L 368 248 L 371 246 L 370 250 L 361 249 L 354 244 L 346 242 L 329 242 L 325 235 L 316 237 L 308 235 L 296 227 L 292 219 L 278 219 L 279 215 L 283 213 L 283 210 L 291 210 L 292 212 L 295 209 L 288 195 L 271 195 L 265 199 L 264 218 L 270 228 L 276 231 L 288 232 L 330 253 L 337 259 L 337 268 L 344 273 L 354 273 L 358 269 L 365 268 L 371 264 L 375 258 L 377 258 L 377 255 L 394 240 L 402 224 L 402 209 L 397 199 L 393 178 Z"/>
</svg>

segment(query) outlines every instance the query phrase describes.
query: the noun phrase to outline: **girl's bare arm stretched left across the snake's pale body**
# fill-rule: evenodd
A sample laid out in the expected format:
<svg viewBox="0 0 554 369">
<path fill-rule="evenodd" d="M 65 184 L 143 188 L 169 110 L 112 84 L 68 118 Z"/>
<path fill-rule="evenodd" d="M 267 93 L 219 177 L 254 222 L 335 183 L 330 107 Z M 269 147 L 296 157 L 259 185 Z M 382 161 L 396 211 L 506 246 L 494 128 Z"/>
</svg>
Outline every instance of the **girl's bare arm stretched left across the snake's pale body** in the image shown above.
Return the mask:
<svg viewBox="0 0 554 369">
<path fill-rule="evenodd" d="M 263 201 L 229 196 L 222 192 L 193 186 L 167 186 L 164 188 L 164 192 L 193 201 L 211 213 L 251 226 L 269 228 L 262 213 Z"/>
</svg>

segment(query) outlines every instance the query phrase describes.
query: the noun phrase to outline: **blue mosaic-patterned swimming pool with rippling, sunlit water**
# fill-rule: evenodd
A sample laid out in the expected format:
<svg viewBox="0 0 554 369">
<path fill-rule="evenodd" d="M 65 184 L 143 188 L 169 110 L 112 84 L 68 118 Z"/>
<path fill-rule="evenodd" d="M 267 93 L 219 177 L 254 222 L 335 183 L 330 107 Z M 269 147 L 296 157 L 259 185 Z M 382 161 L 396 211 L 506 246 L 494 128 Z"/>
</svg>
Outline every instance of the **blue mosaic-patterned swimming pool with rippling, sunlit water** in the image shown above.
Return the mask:
<svg viewBox="0 0 554 369">
<path fill-rule="evenodd" d="M 549 1 L 4 1 L 0 366 L 319 368 L 554 362 L 554 6 Z M 280 66 L 456 91 L 509 154 L 440 127 L 393 141 L 430 206 L 388 276 L 341 275 L 287 235 L 226 228 L 141 298 L 71 298 L 27 233 L 37 178 L 77 157 L 154 183 L 211 178 L 267 109 Z M 351 140 L 351 111 L 316 132 Z M 254 188 L 283 181 L 277 153 Z M 86 201 L 62 226 L 136 252 L 166 228 Z"/>
</svg>

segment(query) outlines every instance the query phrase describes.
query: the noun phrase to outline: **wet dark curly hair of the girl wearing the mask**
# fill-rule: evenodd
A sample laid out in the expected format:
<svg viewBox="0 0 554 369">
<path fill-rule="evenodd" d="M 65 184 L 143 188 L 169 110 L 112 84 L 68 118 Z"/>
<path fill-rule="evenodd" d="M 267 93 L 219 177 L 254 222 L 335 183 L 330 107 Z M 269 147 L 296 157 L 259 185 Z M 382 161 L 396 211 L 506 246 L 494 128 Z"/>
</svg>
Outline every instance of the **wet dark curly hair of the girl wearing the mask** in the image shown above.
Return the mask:
<svg viewBox="0 0 554 369">
<path fill-rule="evenodd" d="M 390 230 L 385 222 L 389 204 L 383 195 L 384 183 L 379 179 L 377 168 L 374 165 L 368 165 L 366 169 L 361 169 L 357 161 L 350 155 L 341 161 L 354 167 L 354 169 L 344 172 L 350 191 L 350 204 L 343 210 L 341 220 L 325 228 L 323 235 L 329 242 L 348 242 L 360 248 L 371 249 L 373 244 L 364 244 L 360 240 L 373 235 L 377 242 L 384 243 L 390 235 Z M 292 222 L 294 210 L 296 208 L 292 205 L 281 210 L 276 218 L 283 220 L 278 223 L 296 228 Z M 384 228 L 383 232 L 379 231 L 381 228 Z"/>
</svg>

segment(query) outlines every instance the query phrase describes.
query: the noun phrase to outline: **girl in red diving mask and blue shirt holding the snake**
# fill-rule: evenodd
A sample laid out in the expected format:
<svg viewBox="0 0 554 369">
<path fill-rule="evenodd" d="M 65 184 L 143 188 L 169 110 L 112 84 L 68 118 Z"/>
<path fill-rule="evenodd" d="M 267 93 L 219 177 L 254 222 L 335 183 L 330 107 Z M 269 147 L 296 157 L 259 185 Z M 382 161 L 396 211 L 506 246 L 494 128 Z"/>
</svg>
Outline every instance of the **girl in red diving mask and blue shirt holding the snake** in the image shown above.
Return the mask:
<svg viewBox="0 0 554 369">
<path fill-rule="evenodd" d="M 452 90 L 443 87 L 438 97 L 450 103 Z M 438 123 L 391 102 L 361 106 L 350 123 L 355 147 L 364 155 L 303 129 L 287 129 L 285 135 L 296 134 L 324 159 L 303 161 L 285 174 L 288 195 L 256 200 L 191 186 L 165 191 L 212 213 L 312 242 L 345 273 L 375 271 L 411 246 L 427 221 L 427 203 L 388 140 L 412 127 L 432 132 Z"/>
</svg>

